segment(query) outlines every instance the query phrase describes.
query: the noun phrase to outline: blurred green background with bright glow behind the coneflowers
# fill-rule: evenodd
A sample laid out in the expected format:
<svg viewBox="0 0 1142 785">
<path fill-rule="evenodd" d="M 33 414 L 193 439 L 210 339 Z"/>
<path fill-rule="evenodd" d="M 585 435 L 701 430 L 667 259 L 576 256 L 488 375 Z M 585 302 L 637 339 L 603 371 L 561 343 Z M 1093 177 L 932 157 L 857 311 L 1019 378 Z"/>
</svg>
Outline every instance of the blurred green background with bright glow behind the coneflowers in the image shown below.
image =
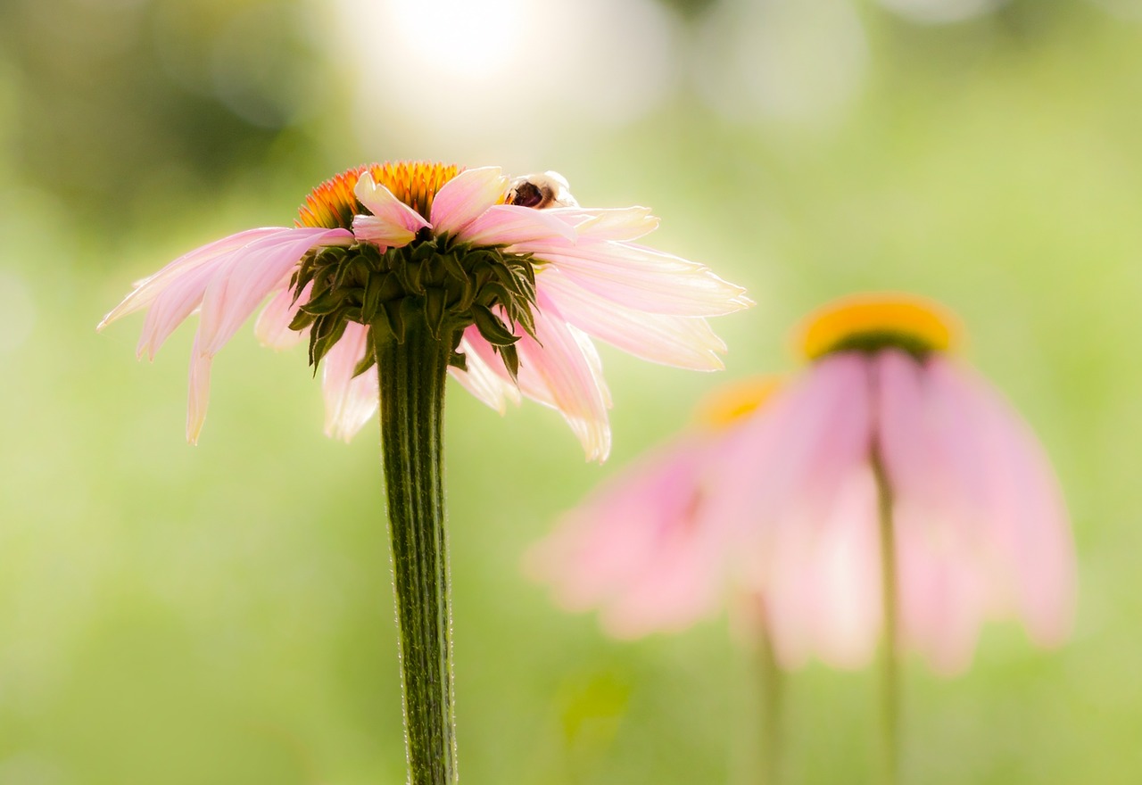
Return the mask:
<svg viewBox="0 0 1142 785">
<path fill-rule="evenodd" d="M 718 381 L 793 367 L 836 294 L 956 309 L 1067 492 L 1079 615 L 907 677 L 908 783 L 1142 782 L 1142 2 L 2 0 L 0 785 L 401 783 L 375 426 L 243 330 L 201 446 L 191 327 L 136 363 L 130 282 L 370 160 L 555 169 L 745 284 L 717 377 L 603 348 L 614 452 L 448 411 L 464 782 L 756 782 L 725 618 L 635 644 L 526 582 L 557 515 Z M 796 783 L 875 771 L 876 679 L 789 685 Z"/>
</svg>

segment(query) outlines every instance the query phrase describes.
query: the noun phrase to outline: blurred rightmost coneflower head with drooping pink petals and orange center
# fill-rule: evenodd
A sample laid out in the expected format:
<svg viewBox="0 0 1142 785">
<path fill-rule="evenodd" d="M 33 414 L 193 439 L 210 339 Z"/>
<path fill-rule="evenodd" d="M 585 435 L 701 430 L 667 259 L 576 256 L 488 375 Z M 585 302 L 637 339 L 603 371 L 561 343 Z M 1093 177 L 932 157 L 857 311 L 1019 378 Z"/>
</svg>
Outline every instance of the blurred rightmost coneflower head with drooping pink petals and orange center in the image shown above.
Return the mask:
<svg viewBox="0 0 1142 785">
<path fill-rule="evenodd" d="M 802 331 L 812 364 L 727 450 L 710 516 L 741 520 L 753 560 L 740 575 L 764 597 L 783 664 L 867 662 L 884 608 L 894 646 L 944 673 L 970 663 L 988 617 L 1019 618 L 1044 646 L 1065 637 L 1075 558 L 1054 474 L 949 354 L 957 333 L 915 297 L 827 306 Z"/>
</svg>

